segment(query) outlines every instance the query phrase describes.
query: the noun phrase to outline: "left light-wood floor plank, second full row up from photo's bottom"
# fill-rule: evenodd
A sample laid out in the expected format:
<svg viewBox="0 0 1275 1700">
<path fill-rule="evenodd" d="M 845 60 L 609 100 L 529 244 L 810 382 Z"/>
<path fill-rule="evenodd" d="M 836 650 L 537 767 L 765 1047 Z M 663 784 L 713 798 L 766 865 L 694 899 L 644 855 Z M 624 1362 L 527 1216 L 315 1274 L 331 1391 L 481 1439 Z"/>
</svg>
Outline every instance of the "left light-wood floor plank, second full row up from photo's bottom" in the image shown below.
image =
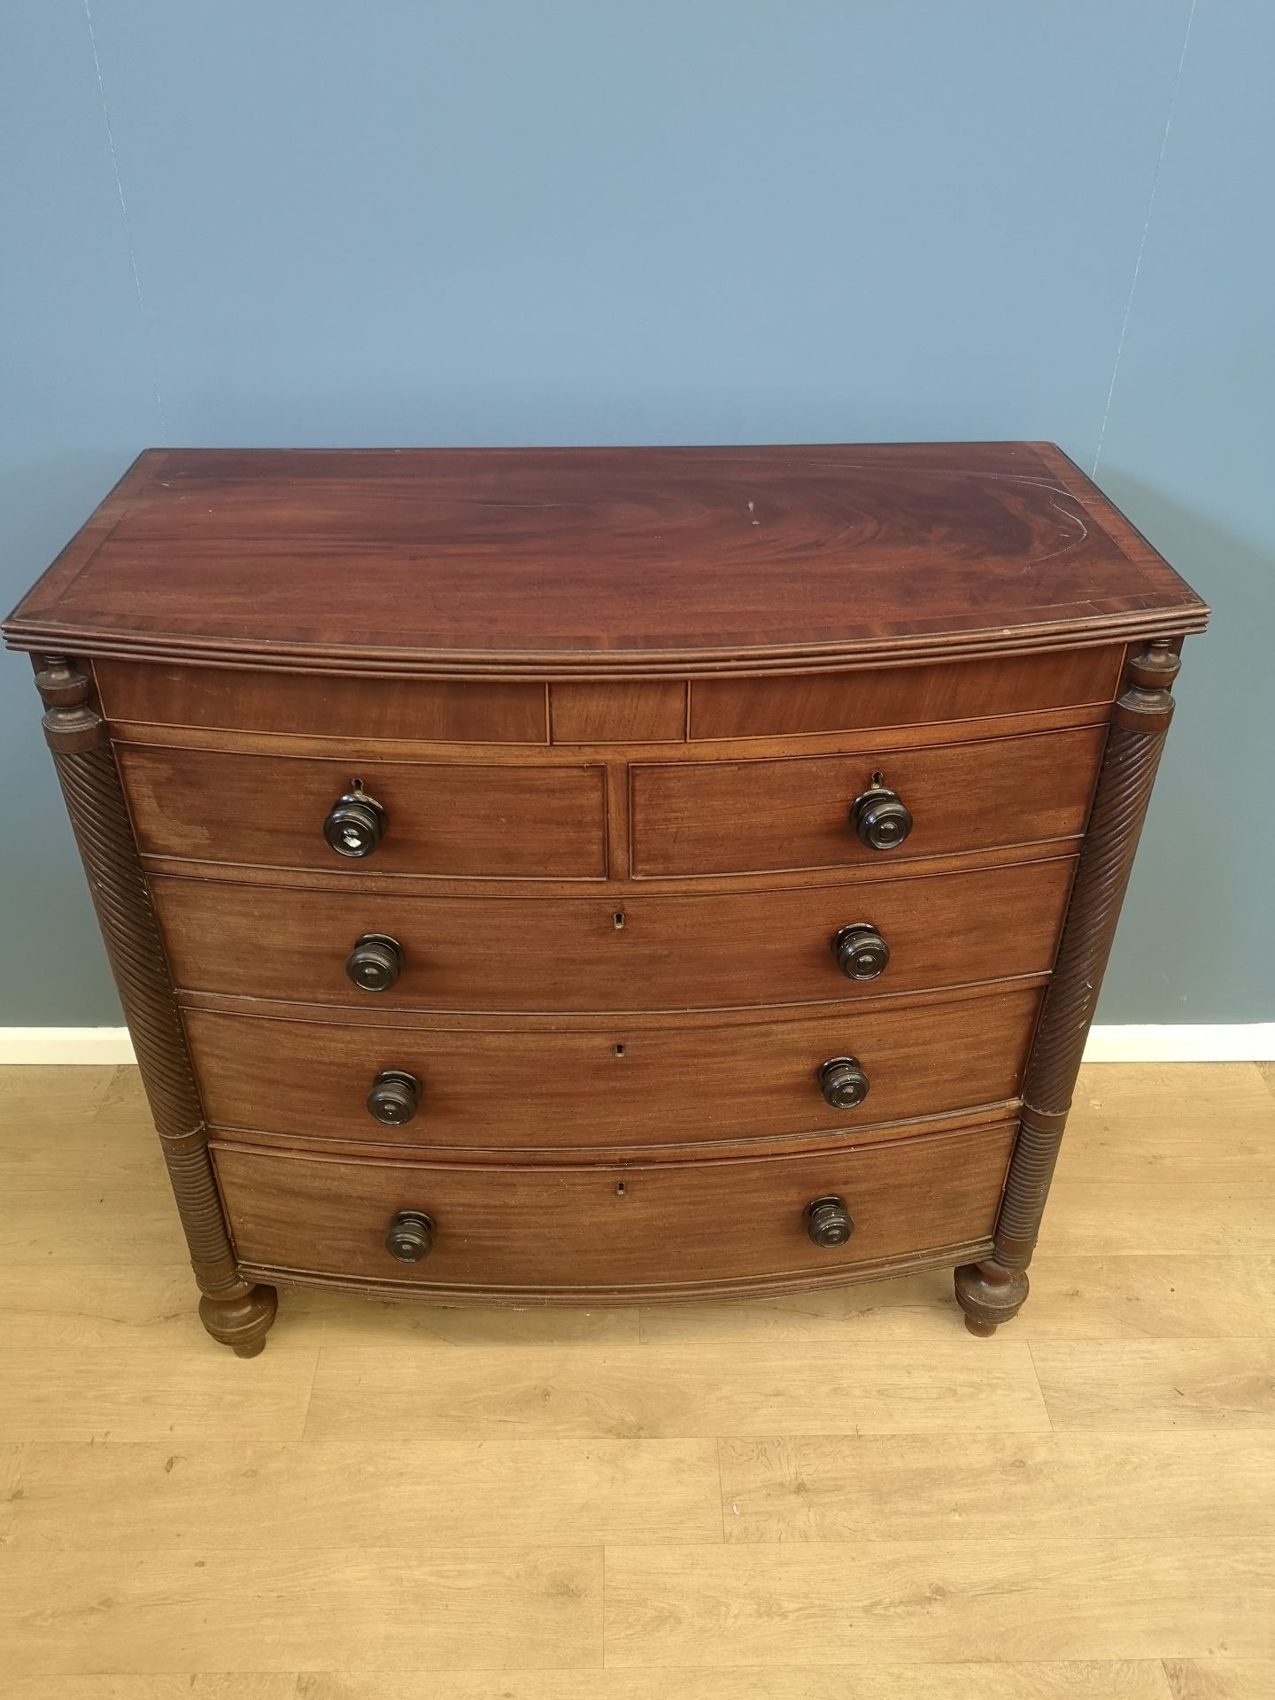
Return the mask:
<svg viewBox="0 0 1275 1700">
<path fill-rule="evenodd" d="M 12 1540 L 117 1550 L 721 1540 L 711 1440 L 388 1440 L 27 1448 Z"/>
</svg>

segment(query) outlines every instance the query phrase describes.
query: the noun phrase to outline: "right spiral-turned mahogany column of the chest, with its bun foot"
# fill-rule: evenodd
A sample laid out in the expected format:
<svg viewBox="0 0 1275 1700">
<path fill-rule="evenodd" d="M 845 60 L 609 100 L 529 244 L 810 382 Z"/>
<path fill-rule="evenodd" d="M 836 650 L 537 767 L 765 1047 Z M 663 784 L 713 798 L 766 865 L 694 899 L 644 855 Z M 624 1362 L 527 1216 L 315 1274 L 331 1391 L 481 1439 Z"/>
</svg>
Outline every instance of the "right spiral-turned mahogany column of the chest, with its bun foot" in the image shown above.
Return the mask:
<svg viewBox="0 0 1275 1700">
<path fill-rule="evenodd" d="M 1112 709 L 1062 940 L 1027 1066 L 994 1251 L 955 1272 L 957 1300 L 972 1334 L 993 1334 L 1027 1299 L 1027 1265 L 1040 1232 L 1071 1093 L 1173 717 L 1171 688 L 1180 666 L 1173 639 L 1146 644 L 1129 658 L 1125 688 Z"/>
</svg>

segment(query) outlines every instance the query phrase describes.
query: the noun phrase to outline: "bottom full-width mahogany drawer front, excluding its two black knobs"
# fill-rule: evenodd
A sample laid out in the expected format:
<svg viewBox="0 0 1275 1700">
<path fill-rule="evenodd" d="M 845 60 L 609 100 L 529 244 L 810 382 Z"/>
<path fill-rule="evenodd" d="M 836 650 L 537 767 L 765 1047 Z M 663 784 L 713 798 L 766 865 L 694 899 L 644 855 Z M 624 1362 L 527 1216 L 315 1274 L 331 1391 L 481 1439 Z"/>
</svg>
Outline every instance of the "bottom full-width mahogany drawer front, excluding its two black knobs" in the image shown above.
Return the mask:
<svg viewBox="0 0 1275 1700">
<path fill-rule="evenodd" d="M 592 1168 L 212 1149 L 246 1265 L 474 1297 L 672 1297 L 670 1289 L 828 1280 L 857 1263 L 984 1241 L 1015 1125 L 813 1156 Z M 842 1198 L 853 1221 L 843 1244 L 814 1244 L 808 1232 L 806 1207 L 823 1197 Z M 420 1261 L 386 1250 L 400 1212 L 434 1224 Z"/>
</svg>

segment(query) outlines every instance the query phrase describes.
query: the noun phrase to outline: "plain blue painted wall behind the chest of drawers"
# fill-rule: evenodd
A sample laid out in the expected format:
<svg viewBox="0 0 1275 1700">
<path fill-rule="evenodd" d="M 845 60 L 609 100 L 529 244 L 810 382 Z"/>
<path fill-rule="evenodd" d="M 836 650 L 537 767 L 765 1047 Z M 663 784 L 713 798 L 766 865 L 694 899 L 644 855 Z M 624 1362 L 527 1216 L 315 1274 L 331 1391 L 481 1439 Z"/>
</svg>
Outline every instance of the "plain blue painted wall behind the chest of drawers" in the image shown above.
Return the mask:
<svg viewBox="0 0 1275 1700">
<path fill-rule="evenodd" d="M 1102 1018 L 1272 1018 L 1273 14 L 8 0 L 0 598 L 146 444 L 1051 437 L 1217 607 Z M 114 1022 L 0 694 L 0 1023 Z"/>
</svg>

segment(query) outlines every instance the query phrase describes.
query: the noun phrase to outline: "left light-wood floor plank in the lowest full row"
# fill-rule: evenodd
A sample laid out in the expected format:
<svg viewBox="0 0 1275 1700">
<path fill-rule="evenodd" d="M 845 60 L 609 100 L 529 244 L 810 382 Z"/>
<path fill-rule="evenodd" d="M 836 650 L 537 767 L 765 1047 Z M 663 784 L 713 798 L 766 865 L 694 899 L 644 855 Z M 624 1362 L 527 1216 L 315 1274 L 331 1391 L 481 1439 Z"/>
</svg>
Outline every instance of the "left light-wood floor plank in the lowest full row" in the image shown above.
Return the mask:
<svg viewBox="0 0 1275 1700">
<path fill-rule="evenodd" d="M 0 1552 L 15 1676 L 602 1663 L 602 1549 Z M 673 1550 L 660 1549 L 660 1550 Z M 694 1549 L 702 1550 L 702 1549 Z"/>
</svg>

